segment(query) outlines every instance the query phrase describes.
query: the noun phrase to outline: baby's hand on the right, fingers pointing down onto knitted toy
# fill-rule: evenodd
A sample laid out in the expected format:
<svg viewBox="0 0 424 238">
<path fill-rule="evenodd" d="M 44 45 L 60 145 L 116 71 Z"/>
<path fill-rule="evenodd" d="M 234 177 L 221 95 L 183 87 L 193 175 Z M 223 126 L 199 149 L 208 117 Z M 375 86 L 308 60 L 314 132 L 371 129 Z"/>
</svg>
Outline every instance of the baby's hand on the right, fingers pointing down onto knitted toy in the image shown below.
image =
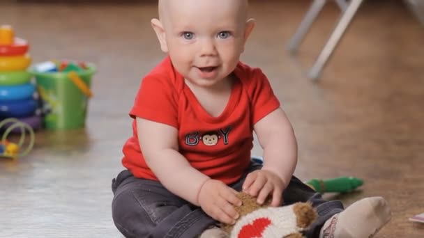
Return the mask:
<svg viewBox="0 0 424 238">
<path fill-rule="evenodd" d="M 285 183 L 278 175 L 268 170 L 255 170 L 249 173 L 243 183 L 243 191 L 250 196 L 257 196 L 257 203 L 263 204 L 268 195 L 271 194 L 273 200 L 271 205 L 278 207 L 281 205 L 282 190 Z"/>
</svg>

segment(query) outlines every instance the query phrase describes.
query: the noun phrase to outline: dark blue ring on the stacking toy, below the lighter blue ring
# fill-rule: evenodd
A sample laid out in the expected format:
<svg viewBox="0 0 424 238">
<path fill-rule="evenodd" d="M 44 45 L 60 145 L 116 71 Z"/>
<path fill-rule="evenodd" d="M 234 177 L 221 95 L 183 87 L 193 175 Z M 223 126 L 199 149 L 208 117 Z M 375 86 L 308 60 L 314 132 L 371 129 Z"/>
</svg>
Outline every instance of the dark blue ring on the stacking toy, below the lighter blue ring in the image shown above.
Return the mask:
<svg viewBox="0 0 424 238">
<path fill-rule="evenodd" d="M 23 118 L 33 115 L 36 110 L 37 101 L 33 99 L 0 102 L 0 118 Z"/>
</svg>

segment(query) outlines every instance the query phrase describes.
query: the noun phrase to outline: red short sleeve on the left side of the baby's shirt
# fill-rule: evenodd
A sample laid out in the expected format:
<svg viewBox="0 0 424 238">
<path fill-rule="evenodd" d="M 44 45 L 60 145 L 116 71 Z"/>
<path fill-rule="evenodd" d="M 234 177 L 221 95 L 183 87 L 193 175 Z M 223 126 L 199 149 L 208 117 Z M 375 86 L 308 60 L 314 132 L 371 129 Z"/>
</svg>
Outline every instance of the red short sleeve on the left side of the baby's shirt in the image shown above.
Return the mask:
<svg viewBox="0 0 424 238">
<path fill-rule="evenodd" d="M 130 116 L 178 128 L 178 99 L 176 95 L 172 82 L 165 76 L 151 75 L 145 77 L 140 84 Z"/>
</svg>

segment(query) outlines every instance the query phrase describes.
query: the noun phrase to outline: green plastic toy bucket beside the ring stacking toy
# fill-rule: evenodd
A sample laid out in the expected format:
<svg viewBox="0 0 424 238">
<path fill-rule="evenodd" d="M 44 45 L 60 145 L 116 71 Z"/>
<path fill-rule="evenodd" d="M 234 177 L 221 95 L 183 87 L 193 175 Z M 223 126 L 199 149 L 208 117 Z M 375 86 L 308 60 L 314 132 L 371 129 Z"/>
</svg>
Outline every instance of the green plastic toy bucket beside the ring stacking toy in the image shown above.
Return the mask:
<svg viewBox="0 0 424 238">
<path fill-rule="evenodd" d="M 94 65 L 77 74 L 79 82 L 69 77 L 69 72 L 29 72 L 36 77 L 36 85 L 43 102 L 44 124 L 47 129 L 77 129 L 85 126 L 89 96 L 84 93 L 91 86 L 91 77 L 96 72 Z M 81 86 L 82 84 L 82 86 Z"/>
</svg>

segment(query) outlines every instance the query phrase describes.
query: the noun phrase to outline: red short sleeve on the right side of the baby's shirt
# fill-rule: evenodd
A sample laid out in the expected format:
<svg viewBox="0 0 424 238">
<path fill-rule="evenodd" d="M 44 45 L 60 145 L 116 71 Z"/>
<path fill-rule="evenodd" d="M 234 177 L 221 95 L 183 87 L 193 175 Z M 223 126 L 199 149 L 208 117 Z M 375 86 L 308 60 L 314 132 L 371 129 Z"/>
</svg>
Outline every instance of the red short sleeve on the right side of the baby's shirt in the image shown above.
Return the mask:
<svg viewBox="0 0 424 238">
<path fill-rule="evenodd" d="M 252 122 L 264 118 L 269 113 L 280 107 L 280 101 L 274 95 L 271 84 L 262 70 L 255 68 L 250 72 L 249 94 L 252 101 Z"/>
</svg>

